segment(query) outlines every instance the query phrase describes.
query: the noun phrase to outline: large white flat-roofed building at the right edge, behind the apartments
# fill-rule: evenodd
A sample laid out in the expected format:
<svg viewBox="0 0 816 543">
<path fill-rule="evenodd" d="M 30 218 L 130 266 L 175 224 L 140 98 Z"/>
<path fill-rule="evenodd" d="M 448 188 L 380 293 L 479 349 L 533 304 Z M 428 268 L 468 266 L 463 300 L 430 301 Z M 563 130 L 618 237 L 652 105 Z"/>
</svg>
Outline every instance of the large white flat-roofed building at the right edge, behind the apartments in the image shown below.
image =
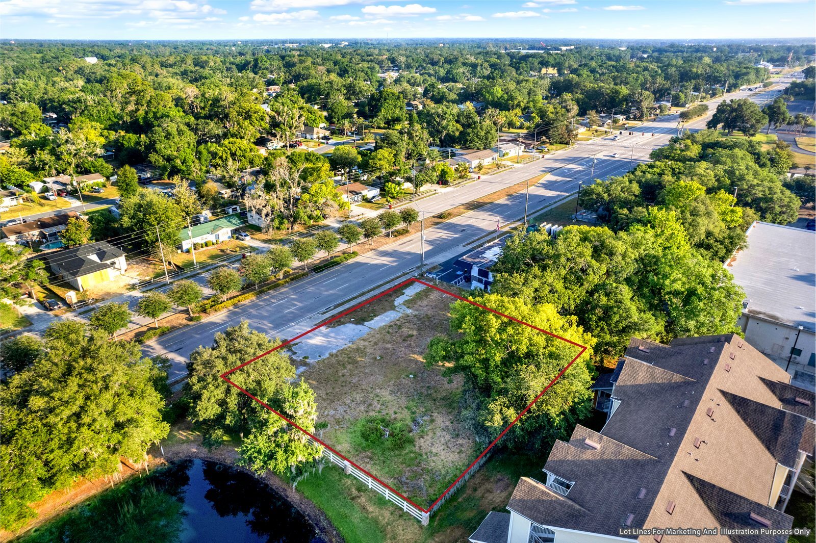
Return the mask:
<svg viewBox="0 0 816 543">
<path fill-rule="evenodd" d="M 813 386 L 816 233 L 757 221 L 747 238 L 747 249 L 725 264 L 745 290 L 739 327 L 752 346 L 787 369 L 795 382 Z"/>
</svg>

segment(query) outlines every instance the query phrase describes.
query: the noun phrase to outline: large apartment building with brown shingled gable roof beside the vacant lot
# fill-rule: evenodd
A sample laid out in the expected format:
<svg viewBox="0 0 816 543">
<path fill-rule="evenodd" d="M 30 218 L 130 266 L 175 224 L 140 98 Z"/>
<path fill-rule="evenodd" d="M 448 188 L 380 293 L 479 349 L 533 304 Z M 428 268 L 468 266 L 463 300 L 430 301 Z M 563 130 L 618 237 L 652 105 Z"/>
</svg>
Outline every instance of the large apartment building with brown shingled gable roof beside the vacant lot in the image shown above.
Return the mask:
<svg viewBox="0 0 816 543">
<path fill-rule="evenodd" d="M 790 381 L 735 334 L 632 339 L 601 431 L 557 441 L 540 478 L 521 478 L 510 512 L 470 541 L 783 543 L 773 531 L 792 526 L 785 506 L 816 439 L 814 393 Z"/>
</svg>

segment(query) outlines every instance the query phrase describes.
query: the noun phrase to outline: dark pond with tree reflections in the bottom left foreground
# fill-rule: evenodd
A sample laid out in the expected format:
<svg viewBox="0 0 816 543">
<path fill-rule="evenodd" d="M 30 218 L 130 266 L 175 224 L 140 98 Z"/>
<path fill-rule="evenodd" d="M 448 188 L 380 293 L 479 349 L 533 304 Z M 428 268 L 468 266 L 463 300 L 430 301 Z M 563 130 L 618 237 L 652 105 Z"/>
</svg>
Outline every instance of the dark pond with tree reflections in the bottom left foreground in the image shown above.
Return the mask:
<svg viewBox="0 0 816 543">
<path fill-rule="evenodd" d="M 258 479 L 200 460 L 131 479 L 23 541 L 325 543 L 303 514 Z"/>
</svg>

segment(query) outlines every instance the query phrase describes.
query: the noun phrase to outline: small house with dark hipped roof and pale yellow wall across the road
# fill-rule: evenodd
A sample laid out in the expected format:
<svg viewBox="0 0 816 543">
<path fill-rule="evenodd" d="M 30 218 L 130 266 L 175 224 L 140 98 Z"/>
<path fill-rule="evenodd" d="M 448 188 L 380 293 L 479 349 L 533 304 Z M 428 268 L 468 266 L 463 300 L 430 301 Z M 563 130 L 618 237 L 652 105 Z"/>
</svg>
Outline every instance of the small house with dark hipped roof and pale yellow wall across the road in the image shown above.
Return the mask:
<svg viewBox="0 0 816 543">
<path fill-rule="evenodd" d="M 127 270 L 125 254 L 107 241 L 62 249 L 46 257 L 51 271 L 79 292 L 121 276 Z"/>
</svg>

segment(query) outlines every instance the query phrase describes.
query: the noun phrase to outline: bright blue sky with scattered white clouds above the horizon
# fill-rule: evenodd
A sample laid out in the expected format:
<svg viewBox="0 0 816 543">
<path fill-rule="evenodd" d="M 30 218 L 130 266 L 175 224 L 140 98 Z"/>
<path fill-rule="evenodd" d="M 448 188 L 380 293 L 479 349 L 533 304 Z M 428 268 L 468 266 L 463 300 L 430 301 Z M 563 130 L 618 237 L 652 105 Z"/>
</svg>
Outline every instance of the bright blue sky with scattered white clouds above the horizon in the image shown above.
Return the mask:
<svg viewBox="0 0 816 543">
<path fill-rule="evenodd" d="M 786 38 L 813 0 L 0 0 L 0 37 Z"/>
</svg>

